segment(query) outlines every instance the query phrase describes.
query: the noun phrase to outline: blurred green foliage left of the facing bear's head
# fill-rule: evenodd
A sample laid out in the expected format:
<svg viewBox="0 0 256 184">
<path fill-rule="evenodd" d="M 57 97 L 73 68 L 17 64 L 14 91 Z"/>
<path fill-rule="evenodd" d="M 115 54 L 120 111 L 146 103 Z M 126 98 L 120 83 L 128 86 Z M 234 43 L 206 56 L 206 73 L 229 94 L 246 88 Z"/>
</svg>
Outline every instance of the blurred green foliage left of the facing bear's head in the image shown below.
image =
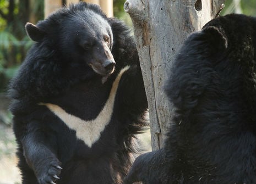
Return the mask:
<svg viewBox="0 0 256 184">
<path fill-rule="evenodd" d="M 0 0 L 0 92 L 6 91 L 10 78 L 17 71 L 31 46 L 25 32 L 25 23 L 30 21 L 29 0 Z M 36 21 L 43 19 L 43 0 L 32 4 Z"/>
</svg>

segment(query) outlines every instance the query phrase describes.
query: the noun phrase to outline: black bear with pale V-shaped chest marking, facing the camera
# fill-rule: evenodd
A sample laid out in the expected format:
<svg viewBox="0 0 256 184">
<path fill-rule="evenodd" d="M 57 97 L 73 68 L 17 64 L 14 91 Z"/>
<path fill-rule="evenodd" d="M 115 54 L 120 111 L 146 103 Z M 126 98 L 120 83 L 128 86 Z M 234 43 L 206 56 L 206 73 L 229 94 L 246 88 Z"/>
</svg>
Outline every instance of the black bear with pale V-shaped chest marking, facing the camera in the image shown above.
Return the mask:
<svg viewBox="0 0 256 184">
<path fill-rule="evenodd" d="M 25 27 L 9 89 L 22 183 L 122 183 L 147 108 L 130 30 L 82 2 Z"/>
</svg>

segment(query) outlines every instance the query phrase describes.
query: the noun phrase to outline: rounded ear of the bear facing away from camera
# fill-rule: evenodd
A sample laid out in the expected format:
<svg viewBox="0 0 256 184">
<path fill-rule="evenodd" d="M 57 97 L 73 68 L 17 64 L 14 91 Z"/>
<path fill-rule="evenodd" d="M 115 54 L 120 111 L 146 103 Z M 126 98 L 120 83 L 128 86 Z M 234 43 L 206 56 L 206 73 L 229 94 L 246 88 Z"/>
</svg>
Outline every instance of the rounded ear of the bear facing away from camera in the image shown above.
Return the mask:
<svg viewBox="0 0 256 184">
<path fill-rule="evenodd" d="M 221 27 L 208 26 L 202 30 L 205 34 L 208 35 L 208 39 L 214 44 L 214 46 L 219 48 L 227 48 L 228 39 L 225 34 L 225 31 Z"/>
</svg>

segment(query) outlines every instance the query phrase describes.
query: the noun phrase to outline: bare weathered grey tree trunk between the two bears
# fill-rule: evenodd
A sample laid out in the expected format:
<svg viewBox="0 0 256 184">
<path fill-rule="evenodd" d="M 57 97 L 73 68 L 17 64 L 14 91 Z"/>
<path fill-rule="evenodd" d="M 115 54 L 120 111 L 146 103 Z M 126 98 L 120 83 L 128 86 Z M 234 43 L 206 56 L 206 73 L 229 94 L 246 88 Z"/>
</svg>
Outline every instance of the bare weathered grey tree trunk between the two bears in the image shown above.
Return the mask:
<svg viewBox="0 0 256 184">
<path fill-rule="evenodd" d="M 163 86 L 175 55 L 187 36 L 219 15 L 225 0 L 127 0 L 149 104 L 152 150 L 162 147 L 173 104 Z"/>
</svg>

